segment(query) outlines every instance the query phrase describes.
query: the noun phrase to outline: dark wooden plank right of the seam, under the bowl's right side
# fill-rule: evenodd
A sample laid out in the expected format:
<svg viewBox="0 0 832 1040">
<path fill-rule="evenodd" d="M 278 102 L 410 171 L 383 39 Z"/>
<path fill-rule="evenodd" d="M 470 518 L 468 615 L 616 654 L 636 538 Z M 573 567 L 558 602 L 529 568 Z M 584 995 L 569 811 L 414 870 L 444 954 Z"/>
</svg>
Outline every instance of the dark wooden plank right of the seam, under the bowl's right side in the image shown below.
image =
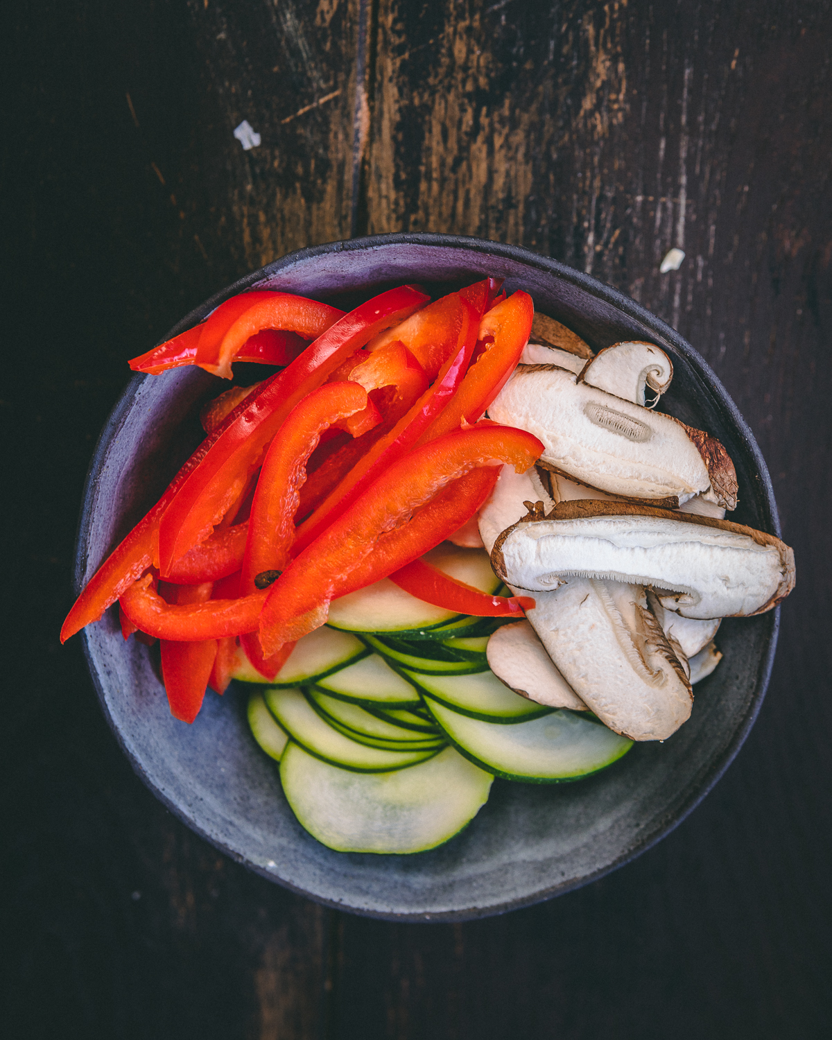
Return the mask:
<svg viewBox="0 0 832 1040">
<path fill-rule="evenodd" d="M 800 580 L 757 726 L 679 830 L 504 918 L 345 918 L 339 1037 L 824 1033 L 830 29 L 821 5 L 381 4 L 369 230 L 522 241 L 678 328 L 754 428 Z"/>
</svg>

